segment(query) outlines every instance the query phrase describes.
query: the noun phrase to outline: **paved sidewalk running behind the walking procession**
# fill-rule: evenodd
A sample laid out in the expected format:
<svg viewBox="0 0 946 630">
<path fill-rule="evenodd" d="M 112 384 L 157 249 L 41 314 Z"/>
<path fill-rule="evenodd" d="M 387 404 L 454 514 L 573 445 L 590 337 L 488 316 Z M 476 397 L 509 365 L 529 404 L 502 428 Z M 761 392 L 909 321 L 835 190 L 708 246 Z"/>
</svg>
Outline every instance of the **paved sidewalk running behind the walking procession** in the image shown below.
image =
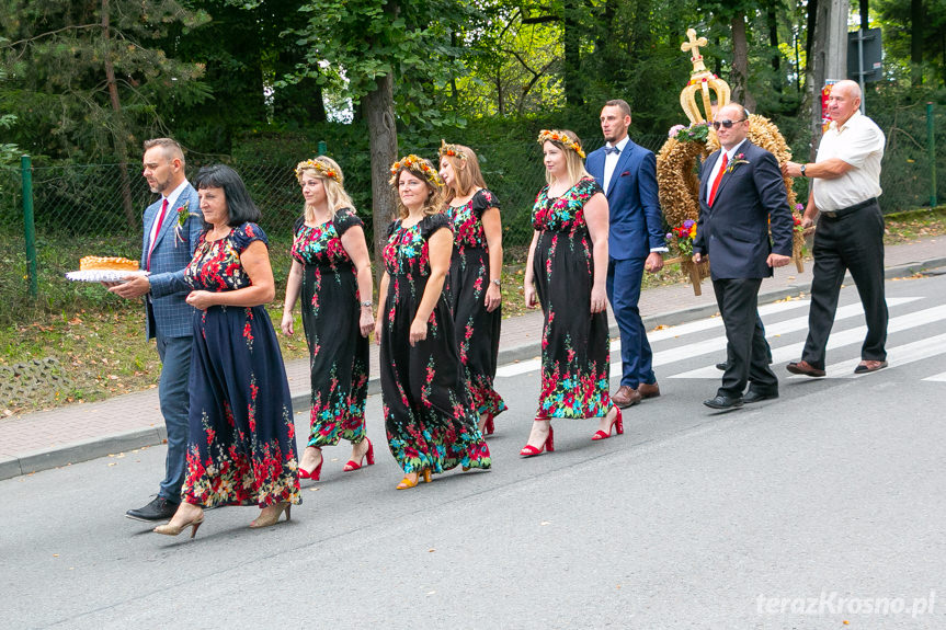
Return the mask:
<svg viewBox="0 0 946 630">
<path fill-rule="evenodd" d="M 885 263 L 888 278 L 944 266 L 946 237 L 890 245 L 886 248 Z M 782 267 L 775 271 L 775 277 L 763 280 L 759 301 L 797 296 L 810 285 L 810 263 L 803 273 L 798 273 L 794 265 Z M 695 296 L 688 284 L 645 290 L 640 297 L 640 312 L 647 328 L 675 325 L 715 314 L 716 300 L 708 279 L 702 288 L 702 296 Z M 616 336 L 613 318 L 611 324 L 612 336 Z M 538 356 L 540 335 L 540 311 L 503 320 L 500 365 Z M 379 390 L 377 365 L 377 346 L 373 345 L 371 374 L 374 378 L 368 388 L 372 393 Z M 287 363 L 286 373 L 295 410 L 303 411 L 308 408 L 310 396 L 308 360 Z M 157 389 L 13 416 L 0 421 L 0 479 L 161 444 L 164 437 Z"/>
</svg>

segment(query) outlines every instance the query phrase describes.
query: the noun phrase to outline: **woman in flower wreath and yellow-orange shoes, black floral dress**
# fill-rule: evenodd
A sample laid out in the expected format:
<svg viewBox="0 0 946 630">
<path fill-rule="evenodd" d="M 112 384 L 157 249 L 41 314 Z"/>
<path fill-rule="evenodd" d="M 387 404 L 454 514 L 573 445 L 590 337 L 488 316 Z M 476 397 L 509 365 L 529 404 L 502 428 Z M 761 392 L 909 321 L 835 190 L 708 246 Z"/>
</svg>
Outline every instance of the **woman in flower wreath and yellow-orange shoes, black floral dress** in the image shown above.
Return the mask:
<svg viewBox="0 0 946 630">
<path fill-rule="evenodd" d="M 388 228 L 375 334 L 391 454 L 404 471 L 398 489 L 456 466 L 489 468 L 477 428 L 444 293 L 453 250 L 451 220 L 440 211 L 443 183 L 417 156 L 391 167 L 399 218 Z"/>
</svg>

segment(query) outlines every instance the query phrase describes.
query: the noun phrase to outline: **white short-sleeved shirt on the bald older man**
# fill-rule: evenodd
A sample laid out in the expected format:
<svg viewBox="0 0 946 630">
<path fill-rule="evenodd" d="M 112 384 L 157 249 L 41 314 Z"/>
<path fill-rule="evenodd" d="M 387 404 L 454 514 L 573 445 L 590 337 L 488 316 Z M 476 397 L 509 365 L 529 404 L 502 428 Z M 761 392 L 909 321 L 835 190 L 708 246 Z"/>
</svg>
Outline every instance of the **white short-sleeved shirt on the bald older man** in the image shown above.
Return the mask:
<svg viewBox="0 0 946 630">
<path fill-rule="evenodd" d="M 831 123 L 821 137 L 816 161 L 837 158 L 854 168 L 832 180 L 812 179 L 814 206 L 819 211 L 833 213 L 880 196 L 884 145 L 884 131 L 859 111 L 855 110 L 840 127 Z"/>
</svg>

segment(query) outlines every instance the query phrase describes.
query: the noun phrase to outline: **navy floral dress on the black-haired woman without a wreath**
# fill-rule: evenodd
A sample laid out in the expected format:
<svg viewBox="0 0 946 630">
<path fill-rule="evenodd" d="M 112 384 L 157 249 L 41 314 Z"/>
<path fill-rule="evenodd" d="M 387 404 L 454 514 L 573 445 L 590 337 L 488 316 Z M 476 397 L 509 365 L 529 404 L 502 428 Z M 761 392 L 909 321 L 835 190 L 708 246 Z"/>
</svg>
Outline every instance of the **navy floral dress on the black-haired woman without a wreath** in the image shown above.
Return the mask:
<svg viewBox="0 0 946 630">
<path fill-rule="evenodd" d="M 216 241 L 204 233 L 184 279 L 195 290 L 250 285 L 240 254 L 267 243 L 255 224 Z M 283 356 L 263 306 L 194 311 L 187 503 L 206 507 L 300 503 L 293 401 Z"/>
</svg>

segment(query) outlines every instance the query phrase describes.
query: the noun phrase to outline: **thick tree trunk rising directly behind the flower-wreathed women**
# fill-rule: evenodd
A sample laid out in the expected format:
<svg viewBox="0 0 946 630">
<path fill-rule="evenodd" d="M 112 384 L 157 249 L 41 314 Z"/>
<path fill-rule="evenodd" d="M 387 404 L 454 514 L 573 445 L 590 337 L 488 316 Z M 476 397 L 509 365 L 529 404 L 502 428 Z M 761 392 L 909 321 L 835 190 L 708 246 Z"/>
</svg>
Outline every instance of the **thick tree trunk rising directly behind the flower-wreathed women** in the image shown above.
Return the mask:
<svg viewBox="0 0 946 630">
<path fill-rule="evenodd" d="M 376 79 L 377 88 L 363 100 L 368 122 L 372 153 L 372 227 L 374 228 L 375 278 L 384 270 L 381 252 L 385 232 L 395 216 L 395 201 L 388 180 L 390 167 L 398 158 L 398 130 L 395 126 L 394 79 L 390 73 Z"/>
</svg>

